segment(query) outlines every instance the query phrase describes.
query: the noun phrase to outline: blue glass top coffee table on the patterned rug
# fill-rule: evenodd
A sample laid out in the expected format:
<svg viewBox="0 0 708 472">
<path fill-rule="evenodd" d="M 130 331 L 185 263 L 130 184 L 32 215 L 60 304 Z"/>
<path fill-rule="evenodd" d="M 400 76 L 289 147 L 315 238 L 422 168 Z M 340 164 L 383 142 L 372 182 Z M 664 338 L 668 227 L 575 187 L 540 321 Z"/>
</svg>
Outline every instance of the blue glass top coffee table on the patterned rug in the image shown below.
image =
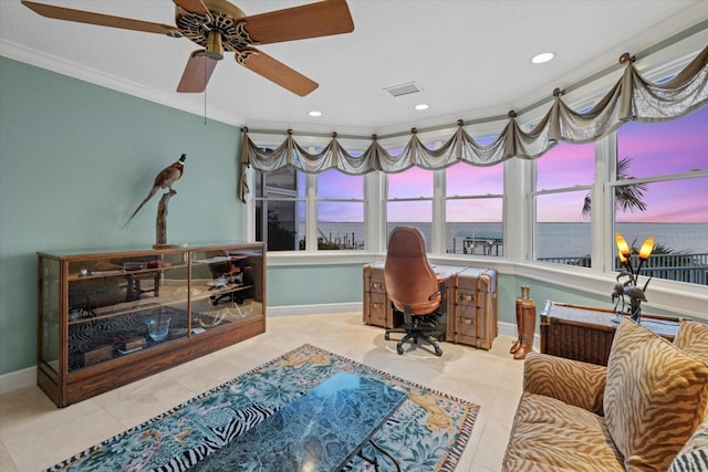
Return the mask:
<svg viewBox="0 0 708 472">
<path fill-rule="evenodd" d="M 340 371 L 192 470 L 329 472 L 341 470 L 357 454 L 378 469 L 362 455 L 362 448 L 405 398 L 405 392 L 381 381 Z"/>
</svg>

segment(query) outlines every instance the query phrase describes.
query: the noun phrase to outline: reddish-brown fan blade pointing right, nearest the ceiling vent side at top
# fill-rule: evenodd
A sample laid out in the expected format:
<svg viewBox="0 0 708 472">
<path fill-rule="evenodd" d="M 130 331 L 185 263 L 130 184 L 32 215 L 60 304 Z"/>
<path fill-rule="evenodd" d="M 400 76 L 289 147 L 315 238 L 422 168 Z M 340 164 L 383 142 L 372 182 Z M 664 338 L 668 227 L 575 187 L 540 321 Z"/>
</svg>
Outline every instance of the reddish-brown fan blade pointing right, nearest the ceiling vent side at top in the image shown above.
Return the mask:
<svg viewBox="0 0 708 472">
<path fill-rule="evenodd" d="M 345 0 L 326 0 L 246 17 L 246 31 L 257 44 L 351 33 L 354 21 Z"/>
</svg>

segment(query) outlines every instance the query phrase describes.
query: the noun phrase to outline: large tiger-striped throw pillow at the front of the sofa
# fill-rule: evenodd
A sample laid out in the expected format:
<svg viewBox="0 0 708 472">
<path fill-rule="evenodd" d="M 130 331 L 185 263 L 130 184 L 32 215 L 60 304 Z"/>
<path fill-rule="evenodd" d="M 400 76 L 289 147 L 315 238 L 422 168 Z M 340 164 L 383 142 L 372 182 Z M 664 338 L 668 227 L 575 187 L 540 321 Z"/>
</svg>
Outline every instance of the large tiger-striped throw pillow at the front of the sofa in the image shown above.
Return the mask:
<svg viewBox="0 0 708 472">
<path fill-rule="evenodd" d="M 607 429 L 627 470 L 665 471 L 702 420 L 708 365 L 625 317 L 612 343 Z"/>
</svg>

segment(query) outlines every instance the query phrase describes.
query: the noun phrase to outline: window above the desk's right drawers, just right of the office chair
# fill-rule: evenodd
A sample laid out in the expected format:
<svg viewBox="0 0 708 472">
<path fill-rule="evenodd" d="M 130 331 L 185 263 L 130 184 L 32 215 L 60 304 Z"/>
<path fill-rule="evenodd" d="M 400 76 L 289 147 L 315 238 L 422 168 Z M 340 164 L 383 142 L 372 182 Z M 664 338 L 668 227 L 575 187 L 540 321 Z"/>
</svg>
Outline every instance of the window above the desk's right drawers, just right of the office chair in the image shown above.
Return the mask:
<svg viewBox="0 0 708 472">
<path fill-rule="evenodd" d="M 446 252 L 503 255 L 504 166 L 446 169 Z"/>
</svg>

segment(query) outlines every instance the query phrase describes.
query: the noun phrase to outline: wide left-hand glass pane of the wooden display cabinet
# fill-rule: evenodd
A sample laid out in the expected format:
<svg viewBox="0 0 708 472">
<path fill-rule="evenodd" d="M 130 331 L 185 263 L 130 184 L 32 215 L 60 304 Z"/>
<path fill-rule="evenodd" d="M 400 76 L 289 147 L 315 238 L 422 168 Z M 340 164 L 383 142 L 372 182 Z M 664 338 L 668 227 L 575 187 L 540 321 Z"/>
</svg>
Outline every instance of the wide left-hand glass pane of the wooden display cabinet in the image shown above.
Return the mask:
<svg viewBox="0 0 708 472">
<path fill-rule="evenodd" d="M 72 260 L 67 370 L 187 336 L 186 252 Z"/>
</svg>

